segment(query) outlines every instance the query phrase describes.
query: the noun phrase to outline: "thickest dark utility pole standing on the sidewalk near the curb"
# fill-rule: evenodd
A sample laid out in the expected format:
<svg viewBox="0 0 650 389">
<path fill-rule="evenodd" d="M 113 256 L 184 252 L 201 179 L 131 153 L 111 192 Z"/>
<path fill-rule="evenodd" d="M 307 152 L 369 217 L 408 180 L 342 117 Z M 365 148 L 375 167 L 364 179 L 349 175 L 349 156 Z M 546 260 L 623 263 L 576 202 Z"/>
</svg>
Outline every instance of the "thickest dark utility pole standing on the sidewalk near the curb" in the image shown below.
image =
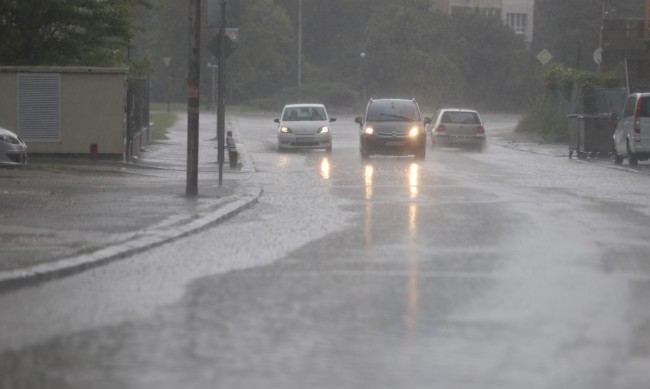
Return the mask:
<svg viewBox="0 0 650 389">
<path fill-rule="evenodd" d="M 190 53 L 187 77 L 187 179 L 185 196 L 198 195 L 199 177 L 199 81 L 201 0 L 190 0 Z"/>
</svg>

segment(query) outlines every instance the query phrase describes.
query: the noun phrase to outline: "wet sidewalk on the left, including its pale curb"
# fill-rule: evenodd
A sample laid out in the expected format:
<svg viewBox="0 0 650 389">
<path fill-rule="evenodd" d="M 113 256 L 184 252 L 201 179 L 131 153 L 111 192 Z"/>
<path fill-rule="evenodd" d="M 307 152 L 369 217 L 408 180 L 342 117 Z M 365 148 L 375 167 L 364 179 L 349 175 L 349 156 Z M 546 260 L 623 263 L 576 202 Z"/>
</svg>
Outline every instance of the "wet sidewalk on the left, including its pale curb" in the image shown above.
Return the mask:
<svg viewBox="0 0 650 389">
<path fill-rule="evenodd" d="M 218 223 L 254 204 L 261 188 L 240 151 L 218 185 L 215 118 L 201 116 L 199 195 L 185 196 L 187 120 L 131 163 L 31 159 L 0 169 L 0 288 L 124 258 Z M 242 152 L 243 151 L 243 152 Z"/>
</svg>

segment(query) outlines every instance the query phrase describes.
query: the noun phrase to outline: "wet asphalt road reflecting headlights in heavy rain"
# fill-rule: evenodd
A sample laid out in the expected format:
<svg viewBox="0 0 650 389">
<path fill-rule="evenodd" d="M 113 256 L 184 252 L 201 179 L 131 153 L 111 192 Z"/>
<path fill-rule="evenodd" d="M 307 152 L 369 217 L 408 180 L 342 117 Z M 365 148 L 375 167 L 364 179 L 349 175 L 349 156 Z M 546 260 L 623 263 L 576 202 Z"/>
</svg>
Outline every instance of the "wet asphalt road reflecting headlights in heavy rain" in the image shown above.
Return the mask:
<svg viewBox="0 0 650 389">
<path fill-rule="evenodd" d="M 0 386 L 648 387 L 650 177 L 497 143 L 363 163 L 345 117 L 278 153 L 271 119 L 234 124 L 254 208 L 0 295 Z"/>
</svg>

